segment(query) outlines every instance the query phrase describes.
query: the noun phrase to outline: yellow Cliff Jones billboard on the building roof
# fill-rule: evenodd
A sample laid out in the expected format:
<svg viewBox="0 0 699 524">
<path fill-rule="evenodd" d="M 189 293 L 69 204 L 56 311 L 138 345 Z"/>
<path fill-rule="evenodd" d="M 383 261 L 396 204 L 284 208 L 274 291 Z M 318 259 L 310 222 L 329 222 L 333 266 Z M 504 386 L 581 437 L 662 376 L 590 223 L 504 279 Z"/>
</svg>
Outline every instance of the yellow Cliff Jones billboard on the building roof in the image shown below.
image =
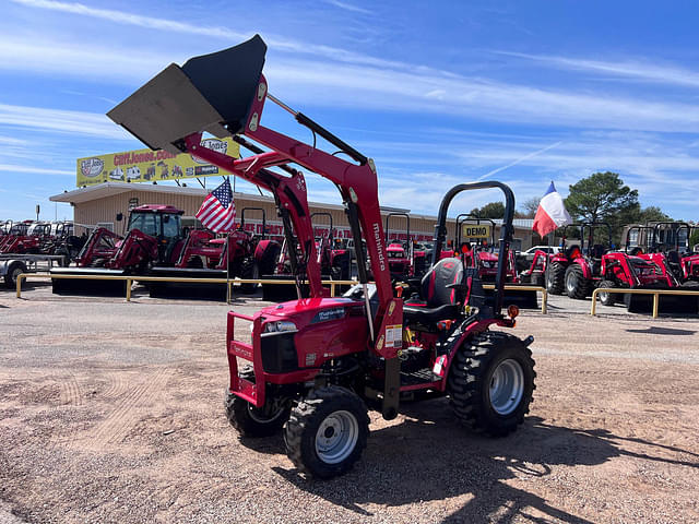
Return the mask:
<svg viewBox="0 0 699 524">
<path fill-rule="evenodd" d="M 205 139 L 201 144 L 236 158 L 240 156 L 240 147 L 230 138 Z M 75 184 L 82 188 L 102 182 L 154 182 L 217 175 L 229 172 L 188 153 L 137 150 L 78 158 Z"/>
</svg>

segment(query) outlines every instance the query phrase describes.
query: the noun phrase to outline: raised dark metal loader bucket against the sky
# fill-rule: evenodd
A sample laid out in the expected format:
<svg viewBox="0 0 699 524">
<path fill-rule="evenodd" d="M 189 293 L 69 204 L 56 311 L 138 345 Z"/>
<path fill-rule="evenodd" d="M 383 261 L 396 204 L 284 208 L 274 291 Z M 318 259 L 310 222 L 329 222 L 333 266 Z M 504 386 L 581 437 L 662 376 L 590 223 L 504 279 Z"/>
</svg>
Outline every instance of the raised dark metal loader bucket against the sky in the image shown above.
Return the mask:
<svg viewBox="0 0 699 524">
<path fill-rule="evenodd" d="M 258 94 L 266 45 L 256 35 L 223 51 L 171 63 L 107 116 L 152 150 L 181 153 L 192 133 L 240 132 Z"/>
</svg>

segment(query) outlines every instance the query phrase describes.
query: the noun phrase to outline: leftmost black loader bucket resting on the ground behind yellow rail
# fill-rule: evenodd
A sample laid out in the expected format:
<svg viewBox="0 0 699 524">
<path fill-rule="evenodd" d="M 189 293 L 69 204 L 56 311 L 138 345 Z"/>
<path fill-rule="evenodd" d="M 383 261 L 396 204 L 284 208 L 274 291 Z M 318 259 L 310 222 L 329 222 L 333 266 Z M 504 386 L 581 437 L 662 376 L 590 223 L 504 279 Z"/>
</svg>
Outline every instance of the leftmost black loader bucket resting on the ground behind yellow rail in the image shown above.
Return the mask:
<svg viewBox="0 0 699 524">
<path fill-rule="evenodd" d="M 91 297 L 126 297 L 127 281 L 99 279 L 100 276 L 122 276 L 121 270 L 105 267 L 54 267 L 51 276 L 55 295 L 85 295 Z M 93 276 L 93 278 L 71 278 L 70 276 Z"/>
</svg>

